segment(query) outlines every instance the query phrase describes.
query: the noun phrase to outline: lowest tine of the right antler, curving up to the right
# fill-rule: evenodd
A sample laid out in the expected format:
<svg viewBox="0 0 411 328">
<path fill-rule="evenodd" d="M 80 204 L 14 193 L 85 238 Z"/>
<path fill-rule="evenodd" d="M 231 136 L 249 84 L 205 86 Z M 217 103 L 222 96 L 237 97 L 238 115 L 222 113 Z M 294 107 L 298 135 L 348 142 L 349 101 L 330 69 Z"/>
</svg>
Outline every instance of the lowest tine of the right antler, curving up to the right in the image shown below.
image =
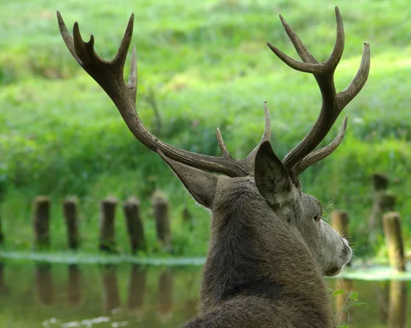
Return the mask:
<svg viewBox="0 0 411 328">
<path fill-rule="evenodd" d="M 346 115 L 344 118 L 343 125 L 340 127 L 340 131 L 338 131 L 338 134 L 332 142 L 327 144 L 327 146 L 317 149 L 316 151 L 313 151 L 312 153 L 308 154 L 306 157 L 303 158 L 294 168 L 294 175 L 297 177 L 300 175 L 306 168 L 312 166 L 312 164 L 319 162 L 323 160 L 325 157 L 327 157 L 329 154 L 331 154 L 333 151 L 337 149 L 337 147 L 340 145 L 340 143 L 343 141 L 344 136 L 345 136 L 345 131 L 347 130 L 347 123 L 348 123 L 348 116 Z"/>
</svg>

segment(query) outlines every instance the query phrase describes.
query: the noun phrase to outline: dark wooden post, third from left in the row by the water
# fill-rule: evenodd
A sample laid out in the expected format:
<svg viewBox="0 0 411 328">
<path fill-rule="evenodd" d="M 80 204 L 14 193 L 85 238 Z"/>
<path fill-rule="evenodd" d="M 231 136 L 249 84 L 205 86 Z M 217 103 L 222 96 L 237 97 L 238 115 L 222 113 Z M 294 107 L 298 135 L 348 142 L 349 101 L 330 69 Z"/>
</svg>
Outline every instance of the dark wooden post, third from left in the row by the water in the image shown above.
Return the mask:
<svg viewBox="0 0 411 328">
<path fill-rule="evenodd" d="M 99 249 L 109 253 L 115 253 L 116 242 L 114 235 L 114 219 L 116 217 L 117 199 L 107 197 L 100 203 L 100 240 Z"/>
</svg>

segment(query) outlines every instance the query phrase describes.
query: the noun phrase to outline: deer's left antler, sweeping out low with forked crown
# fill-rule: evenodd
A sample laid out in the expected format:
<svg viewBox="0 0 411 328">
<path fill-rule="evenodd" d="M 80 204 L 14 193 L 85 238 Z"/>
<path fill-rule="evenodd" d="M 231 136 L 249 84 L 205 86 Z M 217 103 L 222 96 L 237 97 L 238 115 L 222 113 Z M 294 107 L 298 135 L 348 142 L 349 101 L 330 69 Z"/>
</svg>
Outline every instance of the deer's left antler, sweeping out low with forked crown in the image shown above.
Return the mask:
<svg viewBox="0 0 411 328">
<path fill-rule="evenodd" d="M 215 173 L 223 173 L 230 177 L 240 177 L 253 174 L 254 157 L 260 144 L 269 140 L 271 136 L 271 121 L 269 112 L 264 105 L 265 110 L 265 129 L 262 139 L 256 149 L 242 160 L 236 160 L 225 147 L 221 132 L 217 129 L 217 139 L 219 147 L 223 155 L 221 157 L 214 157 L 209 155 L 202 155 L 192 153 L 159 140 L 151 134 L 147 128 L 142 125 L 140 118 L 136 112 L 136 88 L 137 88 L 137 64 L 136 64 L 136 48 L 133 46 L 132 50 L 132 65 L 129 75 L 128 83 L 125 84 L 123 77 L 124 64 L 127 57 L 130 42 L 132 40 L 132 32 L 134 25 L 134 14 L 129 18 L 129 23 L 123 40 L 121 41 L 119 51 L 113 60 L 107 61 L 95 53 L 94 36 L 90 36 L 88 42 L 84 42 L 80 35 L 78 23 L 74 23 L 73 36 L 69 33 L 60 12 L 57 12 L 58 25 L 60 34 L 75 60 L 112 99 L 116 107 L 119 109 L 121 116 L 132 134 L 145 144 L 151 151 L 161 151 L 166 157 L 171 158 L 182 164 L 187 164 L 195 168 L 200 168 Z"/>
</svg>

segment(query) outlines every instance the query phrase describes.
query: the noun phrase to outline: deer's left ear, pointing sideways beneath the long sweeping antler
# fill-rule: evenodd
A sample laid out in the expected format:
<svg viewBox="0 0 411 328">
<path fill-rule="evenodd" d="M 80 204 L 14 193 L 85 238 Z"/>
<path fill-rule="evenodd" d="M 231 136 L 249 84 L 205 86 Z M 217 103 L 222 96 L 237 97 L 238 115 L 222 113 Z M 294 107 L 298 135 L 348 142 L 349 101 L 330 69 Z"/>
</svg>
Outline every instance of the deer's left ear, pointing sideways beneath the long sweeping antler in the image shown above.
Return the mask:
<svg viewBox="0 0 411 328">
<path fill-rule="evenodd" d="M 177 177 L 190 192 L 192 197 L 204 207 L 211 209 L 216 194 L 217 179 L 216 175 L 192 168 L 188 165 L 171 160 L 162 151 L 158 151 L 164 162 L 169 164 Z"/>
</svg>

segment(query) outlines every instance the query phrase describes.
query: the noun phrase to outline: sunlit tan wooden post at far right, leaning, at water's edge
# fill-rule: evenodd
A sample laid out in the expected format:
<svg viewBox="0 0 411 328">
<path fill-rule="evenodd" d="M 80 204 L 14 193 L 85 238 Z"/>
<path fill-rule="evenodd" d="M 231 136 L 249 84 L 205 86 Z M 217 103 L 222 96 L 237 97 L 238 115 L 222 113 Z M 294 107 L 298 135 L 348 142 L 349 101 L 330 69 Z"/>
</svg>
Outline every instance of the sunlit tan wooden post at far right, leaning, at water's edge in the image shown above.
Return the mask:
<svg viewBox="0 0 411 328">
<path fill-rule="evenodd" d="M 406 270 L 403 237 L 401 234 L 401 216 L 398 212 L 388 212 L 382 218 L 390 266 L 401 272 Z"/>
</svg>

